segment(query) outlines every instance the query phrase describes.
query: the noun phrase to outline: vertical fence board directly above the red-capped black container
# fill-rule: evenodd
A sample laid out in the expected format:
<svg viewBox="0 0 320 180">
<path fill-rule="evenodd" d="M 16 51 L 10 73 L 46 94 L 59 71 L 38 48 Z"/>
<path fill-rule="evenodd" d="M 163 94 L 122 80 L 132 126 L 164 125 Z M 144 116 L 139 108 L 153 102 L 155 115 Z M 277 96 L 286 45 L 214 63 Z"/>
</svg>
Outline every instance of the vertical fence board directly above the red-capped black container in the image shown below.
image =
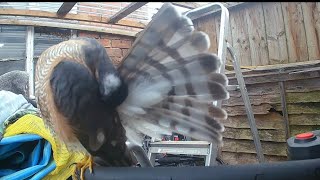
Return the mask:
<svg viewBox="0 0 320 180">
<path fill-rule="evenodd" d="M 289 63 L 308 61 L 308 46 L 301 3 L 281 2 L 286 30 Z"/>
</svg>

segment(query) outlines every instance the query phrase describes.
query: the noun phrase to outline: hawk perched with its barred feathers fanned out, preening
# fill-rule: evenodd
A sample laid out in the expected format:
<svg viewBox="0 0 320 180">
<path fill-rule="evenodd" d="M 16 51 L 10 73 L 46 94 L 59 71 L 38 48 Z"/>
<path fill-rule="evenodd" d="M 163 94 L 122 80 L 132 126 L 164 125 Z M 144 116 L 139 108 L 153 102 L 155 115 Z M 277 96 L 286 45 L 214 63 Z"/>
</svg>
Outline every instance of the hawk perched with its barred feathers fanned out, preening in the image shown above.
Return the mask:
<svg viewBox="0 0 320 180">
<path fill-rule="evenodd" d="M 219 119 L 227 113 L 213 102 L 229 97 L 228 79 L 218 72 L 221 60 L 209 47 L 208 35 L 170 3 L 118 67 L 95 39 L 61 42 L 37 62 L 42 118 L 70 150 L 86 151 L 90 166 L 92 157 L 106 166 L 134 165 L 126 142 L 141 144 L 144 135 L 175 132 L 222 143 Z"/>
</svg>

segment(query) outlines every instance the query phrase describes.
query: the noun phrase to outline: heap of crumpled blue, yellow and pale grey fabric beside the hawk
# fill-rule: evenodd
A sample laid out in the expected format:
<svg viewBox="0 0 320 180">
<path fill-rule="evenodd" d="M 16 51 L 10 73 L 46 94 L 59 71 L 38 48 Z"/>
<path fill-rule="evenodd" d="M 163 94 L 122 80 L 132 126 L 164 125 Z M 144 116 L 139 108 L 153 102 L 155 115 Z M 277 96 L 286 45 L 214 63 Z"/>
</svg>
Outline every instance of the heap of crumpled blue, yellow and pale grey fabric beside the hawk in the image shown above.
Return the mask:
<svg viewBox="0 0 320 180">
<path fill-rule="evenodd" d="M 22 95 L 0 91 L 0 179 L 67 179 L 85 152 L 71 152 Z"/>
</svg>

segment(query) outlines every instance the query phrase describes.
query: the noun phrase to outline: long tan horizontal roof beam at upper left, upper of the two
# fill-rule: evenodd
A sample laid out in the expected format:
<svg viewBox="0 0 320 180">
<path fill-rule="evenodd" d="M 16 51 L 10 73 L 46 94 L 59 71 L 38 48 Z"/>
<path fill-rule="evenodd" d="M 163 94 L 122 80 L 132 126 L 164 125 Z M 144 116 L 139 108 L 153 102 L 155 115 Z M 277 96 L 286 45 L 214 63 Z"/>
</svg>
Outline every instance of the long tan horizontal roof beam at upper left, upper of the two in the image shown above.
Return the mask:
<svg viewBox="0 0 320 180">
<path fill-rule="evenodd" d="M 29 17 L 41 17 L 41 18 L 53 18 L 53 19 L 64 19 L 64 20 L 76 20 L 85 22 L 104 23 L 109 21 L 109 18 L 93 16 L 87 14 L 67 14 L 63 18 L 59 17 L 57 13 L 48 11 L 37 11 L 37 10 L 19 10 L 19 9 L 0 9 L 0 15 L 4 16 L 29 16 Z M 128 26 L 134 28 L 145 28 L 146 24 L 132 20 L 120 20 L 116 23 L 119 26 Z"/>
</svg>

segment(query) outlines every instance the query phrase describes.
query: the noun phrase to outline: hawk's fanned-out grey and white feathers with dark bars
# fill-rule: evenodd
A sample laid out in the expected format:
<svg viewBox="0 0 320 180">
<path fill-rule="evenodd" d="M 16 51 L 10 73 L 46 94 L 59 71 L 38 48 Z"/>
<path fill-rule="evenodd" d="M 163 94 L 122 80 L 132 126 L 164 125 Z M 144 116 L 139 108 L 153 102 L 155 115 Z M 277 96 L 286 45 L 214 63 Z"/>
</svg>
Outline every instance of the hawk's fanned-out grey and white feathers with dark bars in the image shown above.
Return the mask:
<svg viewBox="0 0 320 180">
<path fill-rule="evenodd" d="M 229 97 L 228 79 L 209 46 L 188 17 L 170 3 L 162 6 L 118 68 L 129 87 L 118 110 L 130 141 L 176 132 L 221 143 L 218 119 L 227 114 L 213 102 Z"/>
</svg>

